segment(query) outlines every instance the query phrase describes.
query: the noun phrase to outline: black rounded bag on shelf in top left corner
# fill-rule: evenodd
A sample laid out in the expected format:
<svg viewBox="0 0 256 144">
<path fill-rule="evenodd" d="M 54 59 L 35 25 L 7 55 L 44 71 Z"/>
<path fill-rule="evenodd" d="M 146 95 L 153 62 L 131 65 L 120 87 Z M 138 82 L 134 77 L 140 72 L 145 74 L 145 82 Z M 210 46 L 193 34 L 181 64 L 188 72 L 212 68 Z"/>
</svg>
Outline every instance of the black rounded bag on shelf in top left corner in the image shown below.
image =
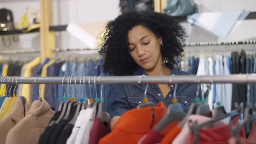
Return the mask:
<svg viewBox="0 0 256 144">
<path fill-rule="evenodd" d="M 0 31 L 14 30 L 13 12 L 7 9 L 0 9 Z"/>
</svg>

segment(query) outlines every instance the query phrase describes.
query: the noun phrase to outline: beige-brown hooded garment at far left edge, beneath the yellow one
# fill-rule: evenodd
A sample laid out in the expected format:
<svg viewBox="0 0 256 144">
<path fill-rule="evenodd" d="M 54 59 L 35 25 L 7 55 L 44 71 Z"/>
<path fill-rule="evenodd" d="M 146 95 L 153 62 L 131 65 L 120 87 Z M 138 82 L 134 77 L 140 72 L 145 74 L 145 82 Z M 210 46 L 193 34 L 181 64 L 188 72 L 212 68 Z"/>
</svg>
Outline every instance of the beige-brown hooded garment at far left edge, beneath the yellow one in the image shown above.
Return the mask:
<svg viewBox="0 0 256 144">
<path fill-rule="evenodd" d="M 25 98 L 26 100 L 26 98 Z M 25 112 L 29 111 L 30 103 L 26 100 L 25 103 Z M 15 104 L 13 106 L 12 111 L 0 121 L 0 144 L 8 144 L 5 143 L 8 132 L 18 124 L 24 116 L 23 103 L 21 98 L 17 98 Z"/>
</svg>

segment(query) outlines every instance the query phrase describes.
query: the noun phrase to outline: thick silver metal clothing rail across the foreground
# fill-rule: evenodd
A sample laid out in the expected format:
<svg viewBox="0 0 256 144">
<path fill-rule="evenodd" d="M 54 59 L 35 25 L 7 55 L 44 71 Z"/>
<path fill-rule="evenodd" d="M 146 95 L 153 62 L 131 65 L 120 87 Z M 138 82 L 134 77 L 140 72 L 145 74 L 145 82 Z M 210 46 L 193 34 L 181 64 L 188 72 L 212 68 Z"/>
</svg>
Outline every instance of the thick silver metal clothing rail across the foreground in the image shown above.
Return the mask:
<svg viewBox="0 0 256 144">
<path fill-rule="evenodd" d="M 23 84 L 191 84 L 191 83 L 256 83 L 256 74 L 218 76 L 66 76 L 66 77 L 0 77 L 0 83 Z"/>
</svg>

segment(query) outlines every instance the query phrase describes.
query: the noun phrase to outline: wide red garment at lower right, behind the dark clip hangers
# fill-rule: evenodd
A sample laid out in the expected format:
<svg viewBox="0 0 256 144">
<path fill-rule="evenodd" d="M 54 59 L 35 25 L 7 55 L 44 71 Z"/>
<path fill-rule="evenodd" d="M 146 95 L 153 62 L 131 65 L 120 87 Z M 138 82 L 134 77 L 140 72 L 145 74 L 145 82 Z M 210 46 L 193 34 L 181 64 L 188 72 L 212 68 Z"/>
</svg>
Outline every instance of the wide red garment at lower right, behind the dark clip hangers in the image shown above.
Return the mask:
<svg viewBox="0 0 256 144">
<path fill-rule="evenodd" d="M 239 119 L 239 116 L 237 116 L 233 120 L 233 124 L 237 124 L 238 119 Z M 197 142 L 197 144 L 227 144 L 231 137 L 231 134 L 230 134 L 229 125 L 227 124 L 219 128 L 201 129 L 199 131 L 198 136 L 199 136 L 199 141 Z M 246 137 L 244 128 L 240 130 L 240 136 Z M 190 144 L 193 144 L 193 138 L 194 138 L 194 134 L 190 133 L 190 136 L 189 136 Z"/>
</svg>

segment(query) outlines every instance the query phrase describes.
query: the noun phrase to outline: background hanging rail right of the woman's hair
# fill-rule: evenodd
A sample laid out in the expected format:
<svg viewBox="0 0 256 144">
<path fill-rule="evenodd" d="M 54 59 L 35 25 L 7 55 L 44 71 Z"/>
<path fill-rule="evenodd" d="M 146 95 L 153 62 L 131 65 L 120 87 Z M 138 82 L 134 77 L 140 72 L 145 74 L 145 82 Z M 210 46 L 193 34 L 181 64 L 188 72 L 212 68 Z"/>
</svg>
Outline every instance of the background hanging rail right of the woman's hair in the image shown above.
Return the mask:
<svg viewBox="0 0 256 144">
<path fill-rule="evenodd" d="M 233 42 L 190 42 L 190 43 L 185 43 L 185 46 L 220 46 L 220 45 L 244 45 L 244 44 L 256 44 L 256 39 L 233 41 Z"/>
</svg>

